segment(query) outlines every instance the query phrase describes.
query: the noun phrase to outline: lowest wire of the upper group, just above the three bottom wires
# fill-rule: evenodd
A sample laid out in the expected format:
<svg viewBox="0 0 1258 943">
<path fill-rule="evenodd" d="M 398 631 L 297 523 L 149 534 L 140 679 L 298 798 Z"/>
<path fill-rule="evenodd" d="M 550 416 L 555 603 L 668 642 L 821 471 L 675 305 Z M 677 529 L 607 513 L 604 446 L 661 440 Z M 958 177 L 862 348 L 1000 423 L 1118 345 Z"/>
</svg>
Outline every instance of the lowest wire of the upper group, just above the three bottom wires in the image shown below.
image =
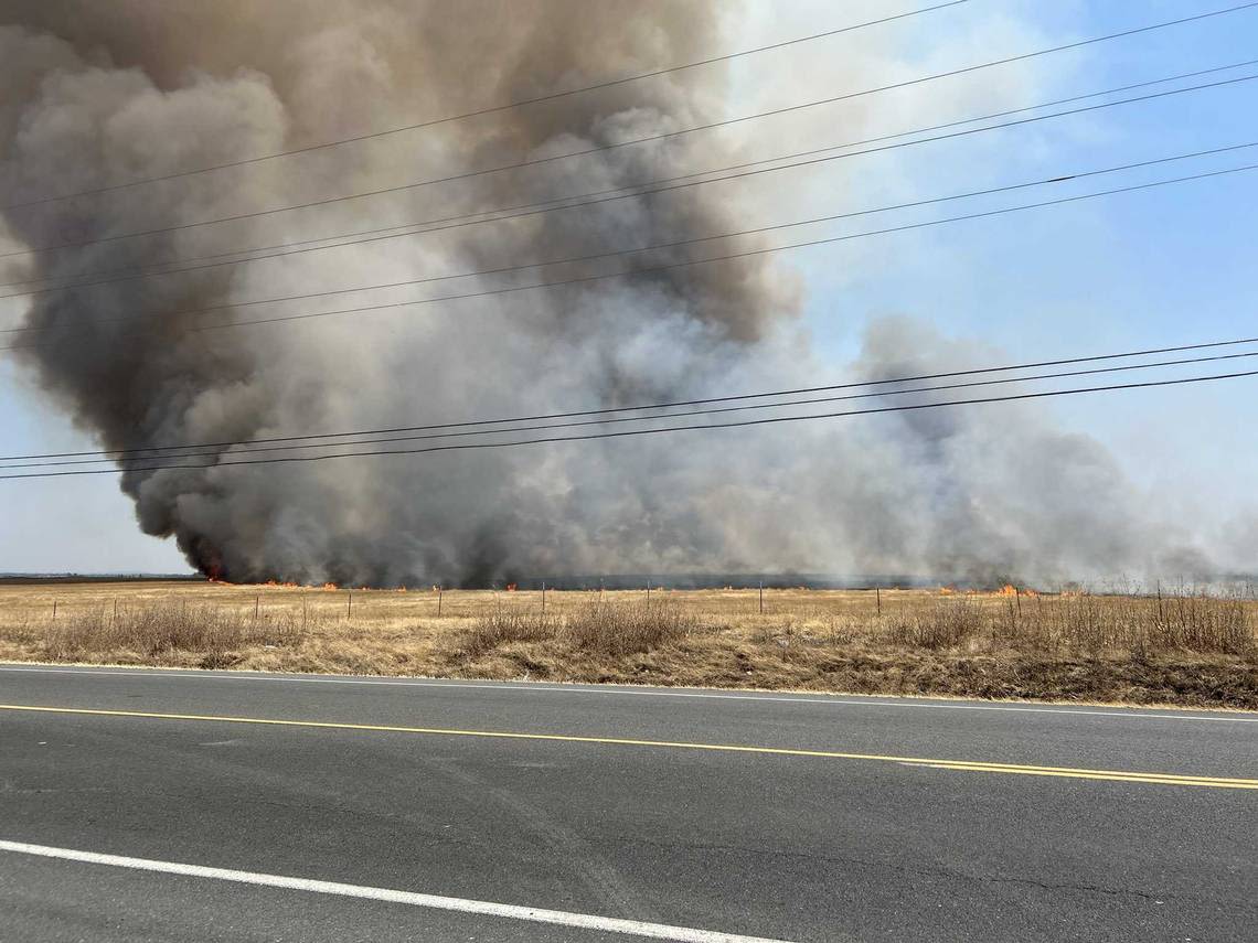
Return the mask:
<svg viewBox="0 0 1258 943">
<path fill-rule="evenodd" d="M 970 212 L 970 214 L 964 214 L 964 215 L 960 215 L 960 216 L 945 216 L 942 219 L 927 220 L 927 221 L 923 221 L 923 223 L 911 223 L 911 224 L 905 224 L 905 225 L 899 225 L 899 226 L 887 226 L 884 229 L 866 230 L 863 233 L 850 233 L 850 234 L 839 235 L 839 236 L 828 236 L 828 238 L 823 238 L 823 239 L 810 239 L 810 240 L 801 241 L 801 243 L 789 243 L 786 245 L 770 246 L 770 248 L 765 248 L 765 249 L 747 249 L 745 251 L 738 251 L 738 253 L 727 253 L 725 255 L 713 255 L 713 256 L 708 256 L 706 259 L 687 259 L 684 262 L 674 262 L 674 263 L 668 263 L 668 264 L 664 264 L 664 265 L 650 265 L 650 267 L 644 267 L 644 268 L 638 268 L 638 269 L 629 269 L 629 270 L 625 270 L 625 272 L 610 272 L 610 273 L 601 273 L 601 274 L 596 274 L 596 275 L 582 275 L 580 278 L 559 279 L 559 280 L 552 280 L 552 282 L 536 282 L 536 283 L 527 284 L 527 285 L 513 285 L 513 287 L 507 287 L 507 288 L 493 288 L 493 289 L 484 289 L 484 290 L 478 290 L 478 292 L 463 292 L 463 293 L 458 293 L 458 294 L 434 295 L 431 298 L 416 298 L 416 299 L 410 299 L 410 301 L 404 301 L 404 302 L 389 302 L 389 303 L 385 303 L 385 304 L 366 304 L 366 306 L 360 306 L 360 307 L 356 307 L 356 308 L 340 308 L 340 309 L 335 309 L 335 311 L 304 312 L 304 313 L 297 313 L 297 314 L 277 314 L 277 316 L 273 316 L 273 317 L 269 317 L 269 318 L 254 318 L 254 319 L 250 319 L 250 321 L 233 321 L 233 322 L 225 322 L 225 323 L 221 323 L 221 324 L 201 324 L 201 326 L 196 326 L 196 327 L 190 327 L 187 329 L 189 329 L 189 332 L 220 331 L 220 329 L 226 329 L 226 328 L 247 327 L 247 326 L 252 326 L 252 324 L 276 324 L 276 323 L 282 323 L 282 322 L 289 322 L 289 321 L 308 321 L 308 319 L 312 319 L 312 318 L 325 318 L 325 317 L 332 317 L 332 316 L 340 316 L 340 314 L 361 314 L 361 313 L 371 312 L 371 311 L 389 311 L 389 309 L 406 308 L 406 307 L 419 306 L 419 304 L 434 304 L 434 303 L 438 303 L 438 302 L 463 301 L 463 299 L 468 299 L 468 298 L 497 297 L 497 295 L 512 294 L 515 292 L 528 292 L 528 290 L 537 290 L 537 289 L 542 289 L 542 288 L 557 288 L 557 287 L 566 287 L 566 285 L 589 284 L 589 283 L 593 283 L 593 282 L 601 282 L 601 280 L 605 280 L 605 279 L 609 279 L 609 278 L 629 278 L 629 277 L 634 277 L 634 275 L 644 275 L 644 274 L 653 274 L 653 273 L 659 273 L 659 272 L 669 272 L 669 270 L 676 270 L 676 269 L 681 269 L 681 268 L 689 268 L 689 267 L 694 267 L 694 265 L 706 265 L 706 264 L 711 264 L 711 263 L 715 263 L 715 262 L 731 262 L 731 260 L 736 260 L 736 259 L 746 259 L 746 258 L 752 258 L 752 256 L 757 256 L 757 255 L 767 255 L 767 254 L 771 254 L 771 253 L 789 251 L 789 250 L 795 250 L 795 249 L 805 249 L 805 248 L 811 248 L 811 246 L 818 246 L 818 245 L 829 245 L 829 244 L 835 244 L 835 243 L 850 241 L 850 240 L 855 240 L 855 239 L 866 239 L 866 238 L 877 236 L 877 235 L 889 235 L 889 234 L 893 234 L 893 233 L 906 233 L 906 231 L 917 230 L 917 229 L 927 229 L 927 228 L 931 228 L 931 226 L 940 226 L 940 225 L 946 225 L 946 224 L 951 224 L 951 223 L 961 223 L 961 221 L 976 220 L 976 219 L 988 219 L 988 218 L 994 218 L 994 216 L 1008 215 L 1008 214 L 1011 214 L 1011 212 L 1021 212 L 1021 211 L 1025 211 L 1025 210 L 1037 210 L 1037 209 L 1043 209 L 1043 207 L 1048 207 L 1048 206 L 1059 206 L 1059 205 L 1071 204 L 1071 202 L 1079 202 L 1079 201 L 1083 201 L 1083 200 L 1093 200 L 1093 199 L 1098 199 L 1098 197 L 1102 197 L 1102 196 L 1113 196 L 1113 195 L 1117 195 L 1117 194 L 1136 192 L 1136 191 L 1141 191 L 1141 190 L 1152 190 L 1155 187 L 1171 186 L 1171 185 L 1185 184 L 1185 182 L 1191 182 L 1191 181 L 1196 181 L 1196 180 L 1208 180 L 1208 179 L 1213 179 L 1213 177 L 1225 176 L 1225 175 L 1229 175 L 1229 174 L 1242 174 L 1242 172 L 1248 172 L 1248 171 L 1252 171 L 1252 170 L 1258 170 L 1258 163 L 1249 163 L 1249 165 L 1244 165 L 1244 166 L 1239 166 L 1239 167 L 1228 167 L 1228 168 L 1224 168 L 1224 170 L 1209 171 L 1209 172 L 1203 172 L 1203 174 L 1193 174 L 1193 175 L 1188 175 L 1188 176 L 1183 176 L 1183 177 L 1171 177 L 1169 180 L 1156 180 L 1156 181 L 1151 181 L 1151 182 L 1147 182 L 1147 184 L 1136 184 L 1136 185 L 1131 185 L 1131 186 L 1113 187 L 1111 190 L 1099 190 L 1099 191 L 1094 191 L 1094 192 L 1091 192 L 1091 194 L 1079 194 L 1079 195 L 1076 195 L 1076 196 L 1066 196 L 1066 197 L 1059 197 L 1059 199 L 1055 199 L 1055 200 L 1043 200 L 1040 202 L 1021 204 L 1021 205 L 1018 205 L 1018 206 L 1006 206 L 1006 207 L 1001 207 L 1001 209 L 998 209 L 998 210 L 985 210 L 982 212 Z M 316 294 L 316 297 L 322 297 L 325 294 L 332 294 L 332 293 L 320 292 L 320 293 Z M 226 311 L 226 309 L 231 309 L 231 308 L 235 308 L 235 307 L 245 307 L 245 306 L 249 306 L 249 304 L 262 304 L 262 303 L 279 302 L 279 301 L 292 301 L 292 299 L 284 298 L 284 299 L 268 299 L 268 302 L 260 302 L 260 301 L 259 302 L 243 302 L 239 306 L 235 306 L 235 304 L 221 304 L 221 306 L 215 306 L 213 308 L 204 308 L 204 309 L 200 309 L 200 311 L 177 312 L 176 314 L 167 316 L 167 317 L 184 317 L 184 316 L 199 314 L 199 313 L 205 313 L 205 312 L 211 312 L 211 311 Z M 21 329 L 26 329 L 26 328 L 18 328 L 18 331 L 21 331 Z M 40 329 L 50 329 L 50 328 L 40 327 Z M 64 343 L 64 342 L 43 341 L 43 342 L 35 342 L 35 343 L 9 345 L 6 347 L 0 347 L 0 351 L 25 350 L 25 348 L 33 348 L 33 347 L 50 347 L 50 346 L 58 346 L 59 343 Z"/>
</svg>

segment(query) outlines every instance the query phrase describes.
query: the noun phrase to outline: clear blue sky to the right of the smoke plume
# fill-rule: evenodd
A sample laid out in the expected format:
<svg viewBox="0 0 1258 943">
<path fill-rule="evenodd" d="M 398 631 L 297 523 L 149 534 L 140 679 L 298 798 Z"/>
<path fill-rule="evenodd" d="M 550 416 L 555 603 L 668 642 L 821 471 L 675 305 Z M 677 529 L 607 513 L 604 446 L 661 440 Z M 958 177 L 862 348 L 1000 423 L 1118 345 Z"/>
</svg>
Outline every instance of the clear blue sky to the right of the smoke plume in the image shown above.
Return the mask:
<svg viewBox="0 0 1258 943">
<path fill-rule="evenodd" d="M 951 29 L 964 33 L 999 10 L 1034 34 L 1008 47 L 1021 52 L 1209 9 L 1215 6 L 1181 1 L 984 3 L 955 14 L 936 14 L 936 29 L 925 30 L 921 24 L 915 29 L 937 34 L 940 21 L 950 20 Z M 1028 92 L 1021 101 L 1049 101 L 1242 62 L 1258 54 L 1255 39 L 1258 11 L 1249 11 L 1044 57 L 1034 63 L 1030 75 L 1038 83 L 1037 92 Z M 926 35 L 922 41 L 932 38 Z M 940 45 L 946 45 L 946 39 Z M 996 49 L 977 57 L 959 54 L 950 65 L 1000 55 Z M 1211 79 L 1196 82 L 1201 80 Z M 898 177 L 910 182 L 897 190 L 897 197 L 871 197 L 868 202 L 894 202 L 907 194 L 920 199 L 961 192 L 1258 141 L 1258 126 L 1252 121 L 1255 94 L 1258 83 L 1240 83 L 1034 128 L 906 148 L 897 158 Z M 995 108 L 980 106 L 962 113 L 985 111 Z M 874 158 L 868 160 L 871 176 L 886 175 L 886 160 L 877 167 Z M 1258 163 L 1258 148 L 1122 175 L 1121 180 L 1088 181 L 1060 195 L 1244 163 Z M 937 215 L 1057 195 L 1057 190 L 1023 192 L 981 206 L 945 207 Z M 946 334 L 994 345 L 1010 360 L 1245 337 L 1258 334 L 1253 316 L 1258 297 L 1254 206 L 1258 171 L 878 236 L 866 240 L 852 270 L 837 262 L 845 249 L 804 250 L 794 260 L 805 273 L 808 323 L 818 347 L 839 362 L 854 353 L 864 323 L 879 313 L 925 318 Z M 915 211 L 897 221 L 930 215 Z M 853 230 L 862 228 L 877 226 L 864 221 Z M 877 243 L 876 249 L 872 243 Z M 877 255 L 878 264 L 864 264 L 867 254 Z M 1258 480 L 1258 441 L 1252 435 L 1255 394 L 1258 382 L 1238 380 L 1066 399 L 1050 409 L 1062 425 L 1091 433 L 1108 445 L 1133 480 L 1152 489 L 1160 500 L 1209 495 L 1214 502 L 1252 507 L 1253 483 Z"/>
</svg>

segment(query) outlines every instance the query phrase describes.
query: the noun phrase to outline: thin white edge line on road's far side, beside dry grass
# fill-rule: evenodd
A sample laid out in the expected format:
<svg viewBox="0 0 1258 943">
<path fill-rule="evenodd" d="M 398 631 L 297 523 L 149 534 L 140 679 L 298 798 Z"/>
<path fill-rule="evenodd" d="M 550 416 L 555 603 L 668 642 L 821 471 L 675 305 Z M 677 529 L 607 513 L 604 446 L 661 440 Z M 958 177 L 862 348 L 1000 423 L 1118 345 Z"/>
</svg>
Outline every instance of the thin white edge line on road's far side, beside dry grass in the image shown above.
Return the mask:
<svg viewBox="0 0 1258 943">
<path fill-rule="evenodd" d="M 6 671 L 26 671 L 30 674 L 74 674 L 74 675 L 108 675 L 121 678 L 192 678 L 211 681 L 281 681 L 287 684 L 357 684 L 377 688 L 459 688 L 472 690 L 511 690 L 533 692 L 550 694 L 601 694 L 615 697 L 618 694 L 637 698 L 698 698 L 703 700 L 749 700 L 766 702 L 776 704 L 818 704 L 821 707 L 887 707 L 887 708 L 923 708 L 927 710 L 1001 710 L 1023 714 L 1068 714 L 1078 717 L 1118 717 L 1128 720 L 1200 720 L 1205 723 L 1258 723 L 1258 717 L 1239 717 L 1228 713 L 1219 713 L 1211 717 L 1200 714 L 1167 714 L 1147 713 L 1138 708 L 1131 710 L 1087 710 L 1066 707 L 1030 707 L 1020 704 L 956 704 L 930 700 L 874 700 L 862 698 L 853 700 L 848 698 L 835 698 L 827 694 L 818 694 L 811 698 L 795 698 L 781 694 L 721 694 L 717 692 L 694 690 L 635 690 L 625 685 L 606 685 L 605 688 L 581 688 L 577 685 L 546 685 L 538 683 L 511 684 L 499 681 L 497 684 L 469 684 L 467 681 L 424 680 L 416 678 L 396 679 L 387 678 L 317 678 L 312 675 L 274 675 L 274 674 L 230 674 L 221 671 L 161 671 L 148 668 L 135 670 L 111 670 L 99 668 L 53 668 L 43 665 L 0 665 L 0 674 Z"/>
</svg>

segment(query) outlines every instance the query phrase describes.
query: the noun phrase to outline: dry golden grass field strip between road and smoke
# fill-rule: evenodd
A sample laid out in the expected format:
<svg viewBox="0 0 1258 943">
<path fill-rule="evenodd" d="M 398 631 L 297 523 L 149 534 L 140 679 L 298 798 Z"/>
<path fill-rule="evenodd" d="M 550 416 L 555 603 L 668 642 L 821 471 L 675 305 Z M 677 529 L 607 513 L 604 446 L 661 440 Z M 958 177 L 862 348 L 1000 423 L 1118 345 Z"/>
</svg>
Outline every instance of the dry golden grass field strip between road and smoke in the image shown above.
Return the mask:
<svg viewBox="0 0 1258 943">
<path fill-rule="evenodd" d="M 0 659 L 1258 708 L 1258 601 L 8 583 Z"/>
</svg>

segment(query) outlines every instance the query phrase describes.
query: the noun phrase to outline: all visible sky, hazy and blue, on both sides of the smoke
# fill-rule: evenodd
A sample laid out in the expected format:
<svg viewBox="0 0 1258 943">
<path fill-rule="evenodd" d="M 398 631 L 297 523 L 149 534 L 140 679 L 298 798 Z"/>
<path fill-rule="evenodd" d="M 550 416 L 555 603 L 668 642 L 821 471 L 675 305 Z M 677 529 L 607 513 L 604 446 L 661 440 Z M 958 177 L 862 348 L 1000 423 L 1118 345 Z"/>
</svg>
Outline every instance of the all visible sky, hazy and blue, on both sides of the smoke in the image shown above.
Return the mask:
<svg viewBox="0 0 1258 943">
<path fill-rule="evenodd" d="M 730 49 L 897 13 L 916 4 L 751 3 Z M 896 26 L 740 60 L 733 111 L 755 111 L 770 89 L 800 99 L 902 80 L 1215 6 L 1201 0 L 1011 3 L 975 0 Z M 849 9 L 850 8 L 850 9 Z M 1255 55 L 1258 10 L 1105 43 L 1068 54 L 862 99 L 859 133 L 892 133 L 969 114 L 1083 94 Z M 712 50 L 720 53 L 723 50 Z M 859 64 L 859 67 L 854 64 Z M 0 64 L 0 75 L 3 75 Z M 881 72 L 879 72 L 881 70 Z M 1248 74 L 1239 70 L 1232 74 Z M 1209 80 L 1209 79 L 1205 79 Z M 834 89 L 833 92 L 830 89 Z M 1258 141 L 1245 121 L 1258 82 L 1171 97 L 972 138 L 842 162 L 761 184 L 766 221 L 842 212 L 1067 175 L 1181 152 Z M 877 99 L 877 101 L 874 101 Z M 794 147 L 844 140 L 845 114 L 765 128 Z M 811 142 L 811 145 L 810 145 Z M 1115 179 L 1125 185 L 1258 163 L 1258 148 Z M 830 226 L 860 231 L 940 215 L 1103 189 L 1062 185 L 937 210 L 886 214 Z M 1066 207 L 876 236 L 785 254 L 806 293 L 804 329 L 829 372 L 844 378 L 866 326 L 888 314 L 972 342 L 975 366 L 1258 334 L 1253 265 L 1258 171 Z M 809 238 L 799 233 L 781 241 Z M 11 324 L 13 302 L 0 303 Z M 9 306 L 9 307 L 5 307 Z M 301 329 L 301 328 L 297 328 Z M 730 392 L 742 392 L 733 389 Z M 1054 401 L 1048 409 L 1118 458 L 1167 516 L 1237 527 L 1255 504 L 1258 378 Z M 91 449 L 0 355 L 0 451 Z M 984 406 L 1003 421 L 1001 406 Z M 426 417 L 424 417 L 426 419 Z M 444 419 L 444 417 L 442 417 Z M 416 417 L 416 421 L 420 421 Z M 862 419 L 857 421 L 878 421 Z M 301 430 L 298 430 L 301 431 Z M 424 461 L 424 456 L 414 456 Z M 1248 522 L 1248 523 L 1247 523 Z M 0 482 L 0 571 L 184 571 L 171 542 L 143 536 L 109 475 Z"/>
</svg>

